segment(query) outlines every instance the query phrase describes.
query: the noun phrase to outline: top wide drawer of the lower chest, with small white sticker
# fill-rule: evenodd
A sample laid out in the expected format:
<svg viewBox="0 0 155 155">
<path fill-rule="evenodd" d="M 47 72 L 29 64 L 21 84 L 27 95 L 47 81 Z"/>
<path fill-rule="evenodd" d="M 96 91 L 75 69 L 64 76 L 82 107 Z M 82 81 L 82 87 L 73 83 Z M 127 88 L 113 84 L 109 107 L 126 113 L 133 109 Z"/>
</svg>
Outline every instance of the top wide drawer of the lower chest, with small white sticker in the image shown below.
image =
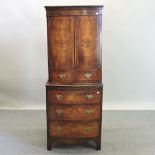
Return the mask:
<svg viewBox="0 0 155 155">
<path fill-rule="evenodd" d="M 48 91 L 49 103 L 60 104 L 99 104 L 101 91 Z"/>
</svg>

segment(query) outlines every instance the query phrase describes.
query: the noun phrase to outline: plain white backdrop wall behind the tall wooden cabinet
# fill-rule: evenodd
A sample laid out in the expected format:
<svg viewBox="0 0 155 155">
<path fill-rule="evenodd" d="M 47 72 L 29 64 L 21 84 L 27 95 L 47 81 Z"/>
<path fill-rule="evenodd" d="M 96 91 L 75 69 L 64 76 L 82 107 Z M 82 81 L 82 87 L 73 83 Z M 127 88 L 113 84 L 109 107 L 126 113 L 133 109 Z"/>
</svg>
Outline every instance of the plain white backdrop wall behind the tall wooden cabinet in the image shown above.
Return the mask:
<svg viewBox="0 0 155 155">
<path fill-rule="evenodd" d="M 45 109 L 48 4 L 104 4 L 104 108 L 155 109 L 154 0 L 2 1 L 0 108 Z"/>
</svg>

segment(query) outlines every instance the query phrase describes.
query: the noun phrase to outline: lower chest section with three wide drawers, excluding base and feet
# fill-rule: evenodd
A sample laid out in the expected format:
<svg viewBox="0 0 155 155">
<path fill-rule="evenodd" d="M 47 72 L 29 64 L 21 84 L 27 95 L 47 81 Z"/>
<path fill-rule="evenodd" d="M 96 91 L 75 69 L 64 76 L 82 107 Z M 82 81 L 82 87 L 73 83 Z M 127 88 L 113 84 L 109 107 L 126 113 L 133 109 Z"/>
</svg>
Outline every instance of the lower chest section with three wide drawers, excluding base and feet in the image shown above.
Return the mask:
<svg viewBox="0 0 155 155">
<path fill-rule="evenodd" d="M 50 137 L 91 138 L 100 135 L 102 87 L 47 87 Z"/>
</svg>

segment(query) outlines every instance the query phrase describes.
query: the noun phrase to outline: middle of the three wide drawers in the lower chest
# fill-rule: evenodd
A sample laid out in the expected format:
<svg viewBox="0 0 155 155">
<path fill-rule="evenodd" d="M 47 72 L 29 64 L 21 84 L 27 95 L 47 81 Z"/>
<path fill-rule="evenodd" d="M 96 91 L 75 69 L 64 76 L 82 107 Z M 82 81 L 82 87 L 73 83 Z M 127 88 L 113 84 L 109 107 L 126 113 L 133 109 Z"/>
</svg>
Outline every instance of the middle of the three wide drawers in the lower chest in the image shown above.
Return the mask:
<svg viewBox="0 0 155 155">
<path fill-rule="evenodd" d="M 48 105 L 48 118 L 51 120 L 97 120 L 100 118 L 99 105 Z"/>
</svg>

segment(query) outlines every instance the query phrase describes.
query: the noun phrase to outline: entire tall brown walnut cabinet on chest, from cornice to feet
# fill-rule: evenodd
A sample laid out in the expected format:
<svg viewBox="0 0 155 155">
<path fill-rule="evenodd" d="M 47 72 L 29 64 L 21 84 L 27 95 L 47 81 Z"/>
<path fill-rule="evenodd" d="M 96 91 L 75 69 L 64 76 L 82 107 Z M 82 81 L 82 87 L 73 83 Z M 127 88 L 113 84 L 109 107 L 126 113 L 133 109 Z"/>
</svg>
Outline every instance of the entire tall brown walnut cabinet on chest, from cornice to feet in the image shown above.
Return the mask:
<svg viewBox="0 0 155 155">
<path fill-rule="evenodd" d="M 94 141 L 101 149 L 103 6 L 45 7 L 47 149 Z"/>
</svg>

